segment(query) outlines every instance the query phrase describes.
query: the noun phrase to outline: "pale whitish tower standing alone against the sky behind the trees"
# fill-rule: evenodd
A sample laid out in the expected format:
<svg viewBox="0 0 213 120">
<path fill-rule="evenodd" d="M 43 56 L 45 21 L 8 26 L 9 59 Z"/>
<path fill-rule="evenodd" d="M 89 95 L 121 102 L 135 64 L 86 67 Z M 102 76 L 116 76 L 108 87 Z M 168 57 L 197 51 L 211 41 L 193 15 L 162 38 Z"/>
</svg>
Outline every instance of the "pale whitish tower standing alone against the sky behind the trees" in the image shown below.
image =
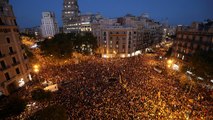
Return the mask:
<svg viewBox="0 0 213 120">
<path fill-rule="evenodd" d="M 42 37 L 44 38 L 54 37 L 55 34 L 59 33 L 59 28 L 53 12 L 42 12 L 41 31 Z"/>
</svg>

